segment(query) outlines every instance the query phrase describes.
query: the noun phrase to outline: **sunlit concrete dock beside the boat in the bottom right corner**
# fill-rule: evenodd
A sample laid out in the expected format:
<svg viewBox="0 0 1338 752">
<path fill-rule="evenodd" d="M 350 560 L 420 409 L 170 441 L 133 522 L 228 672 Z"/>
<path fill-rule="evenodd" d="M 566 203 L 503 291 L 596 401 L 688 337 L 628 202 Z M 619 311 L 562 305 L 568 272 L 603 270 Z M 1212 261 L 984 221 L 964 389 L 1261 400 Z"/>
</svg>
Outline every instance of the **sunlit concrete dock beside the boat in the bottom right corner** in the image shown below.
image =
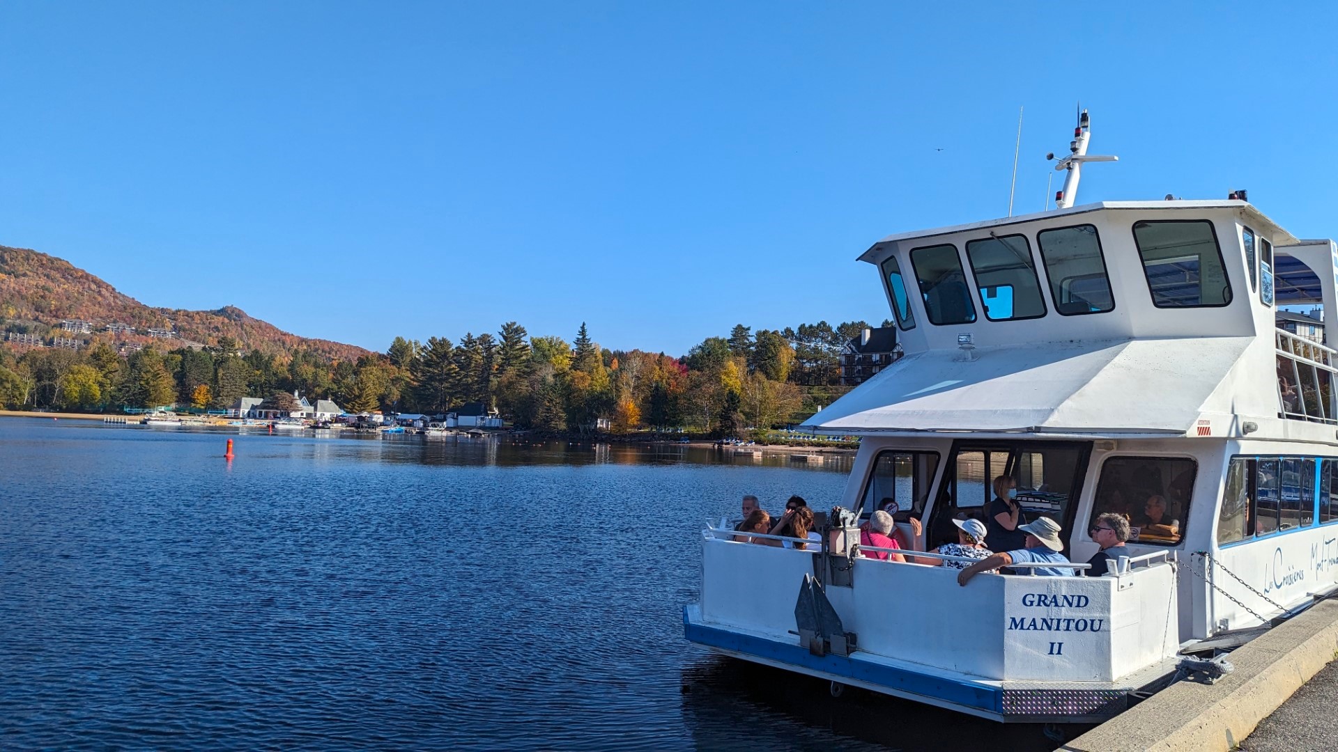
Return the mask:
<svg viewBox="0 0 1338 752">
<path fill-rule="evenodd" d="M 1322 601 L 1234 650 L 1227 660 L 1235 670 L 1216 684 L 1176 682 L 1060 749 L 1333 749 L 1338 747 L 1338 721 L 1331 712 L 1338 701 L 1338 670 L 1330 666 L 1321 672 L 1335 657 L 1338 601 Z M 1317 674 L 1313 688 L 1307 688 Z M 1298 693 L 1302 688 L 1306 690 Z M 1293 694 L 1297 702 L 1288 708 L 1284 704 Z M 1311 731 L 1291 720 L 1307 715 L 1313 715 L 1307 721 Z"/>
</svg>

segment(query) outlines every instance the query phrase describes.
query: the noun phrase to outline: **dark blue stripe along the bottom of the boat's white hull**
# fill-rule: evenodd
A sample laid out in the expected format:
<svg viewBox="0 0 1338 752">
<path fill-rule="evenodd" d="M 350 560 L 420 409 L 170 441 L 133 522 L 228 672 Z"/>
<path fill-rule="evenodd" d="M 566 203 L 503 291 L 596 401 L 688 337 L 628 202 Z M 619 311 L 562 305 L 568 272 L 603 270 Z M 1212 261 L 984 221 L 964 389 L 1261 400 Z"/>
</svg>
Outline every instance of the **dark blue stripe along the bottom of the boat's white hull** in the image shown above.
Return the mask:
<svg viewBox="0 0 1338 752">
<path fill-rule="evenodd" d="M 995 686 L 843 656 L 814 656 L 808 649 L 800 648 L 797 642 L 780 642 L 765 637 L 740 634 L 717 626 L 694 624 L 689 618 L 686 606 L 682 610 L 682 632 L 689 642 L 843 676 L 866 684 L 884 686 L 892 692 L 917 694 L 931 705 L 937 704 L 934 702 L 935 700 L 939 700 L 942 702 L 975 708 L 991 715 L 1002 715 L 1004 712 L 1002 690 Z"/>
</svg>

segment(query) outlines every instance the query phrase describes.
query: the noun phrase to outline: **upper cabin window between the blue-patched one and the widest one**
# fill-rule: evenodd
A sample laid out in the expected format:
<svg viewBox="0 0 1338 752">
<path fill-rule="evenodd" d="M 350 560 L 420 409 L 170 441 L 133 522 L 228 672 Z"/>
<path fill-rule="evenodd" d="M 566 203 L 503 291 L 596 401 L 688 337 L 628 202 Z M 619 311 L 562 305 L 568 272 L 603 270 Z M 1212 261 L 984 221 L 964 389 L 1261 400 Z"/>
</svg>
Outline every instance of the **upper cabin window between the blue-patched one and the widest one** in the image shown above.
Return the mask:
<svg viewBox="0 0 1338 752">
<path fill-rule="evenodd" d="M 1041 262 L 1050 278 L 1054 309 L 1064 316 L 1104 313 L 1115 309 L 1111 280 L 1101 256 L 1094 225 L 1041 230 L 1036 236 Z"/>
</svg>

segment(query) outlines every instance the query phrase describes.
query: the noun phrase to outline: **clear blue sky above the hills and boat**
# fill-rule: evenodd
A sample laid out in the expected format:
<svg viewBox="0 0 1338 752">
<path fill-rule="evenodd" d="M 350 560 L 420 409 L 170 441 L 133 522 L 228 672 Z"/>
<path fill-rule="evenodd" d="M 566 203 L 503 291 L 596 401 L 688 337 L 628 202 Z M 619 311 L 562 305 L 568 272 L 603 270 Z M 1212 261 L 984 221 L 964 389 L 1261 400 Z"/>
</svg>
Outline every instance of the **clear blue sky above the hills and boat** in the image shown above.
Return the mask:
<svg viewBox="0 0 1338 752">
<path fill-rule="evenodd" d="M 4 3 L 0 244 L 380 351 L 681 355 L 880 322 L 854 258 L 1005 215 L 1020 106 L 1041 210 L 1080 100 L 1121 159 L 1080 203 L 1246 187 L 1338 236 L 1333 3 L 894 5 Z"/>
</svg>

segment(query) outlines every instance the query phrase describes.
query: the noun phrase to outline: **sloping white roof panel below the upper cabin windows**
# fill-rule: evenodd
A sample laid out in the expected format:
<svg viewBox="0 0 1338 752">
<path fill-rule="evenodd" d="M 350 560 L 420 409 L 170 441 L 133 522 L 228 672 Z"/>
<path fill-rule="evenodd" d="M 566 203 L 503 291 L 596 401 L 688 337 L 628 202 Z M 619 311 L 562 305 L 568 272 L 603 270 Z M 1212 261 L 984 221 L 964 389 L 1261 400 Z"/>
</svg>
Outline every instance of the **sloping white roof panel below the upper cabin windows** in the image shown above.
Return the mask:
<svg viewBox="0 0 1338 752">
<path fill-rule="evenodd" d="M 1276 411 L 1276 395 L 1234 395 L 1230 377 L 1254 337 L 1040 343 L 909 355 L 804 421 L 871 432 L 1184 435 L 1204 412 Z M 1271 343 L 1270 343 L 1271 347 Z M 1131 384 L 1139 397 L 1129 397 Z M 1250 400 L 1258 399 L 1259 404 Z"/>
</svg>

